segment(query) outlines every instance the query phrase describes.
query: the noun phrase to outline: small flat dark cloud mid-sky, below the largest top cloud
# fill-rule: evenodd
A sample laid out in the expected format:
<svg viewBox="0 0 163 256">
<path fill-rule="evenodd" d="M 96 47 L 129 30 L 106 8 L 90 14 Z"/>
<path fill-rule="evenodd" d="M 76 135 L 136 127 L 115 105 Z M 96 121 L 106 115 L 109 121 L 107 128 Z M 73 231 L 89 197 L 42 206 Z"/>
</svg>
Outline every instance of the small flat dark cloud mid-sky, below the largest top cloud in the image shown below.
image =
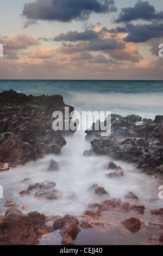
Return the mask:
<svg viewBox="0 0 163 256">
<path fill-rule="evenodd" d="M 95 40 L 99 37 L 96 31 L 86 29 L 84 32 L 70 31 L 67 34 L 61 33 L 53 38 L 53 41 L 85 41 Z"/>
</svg>

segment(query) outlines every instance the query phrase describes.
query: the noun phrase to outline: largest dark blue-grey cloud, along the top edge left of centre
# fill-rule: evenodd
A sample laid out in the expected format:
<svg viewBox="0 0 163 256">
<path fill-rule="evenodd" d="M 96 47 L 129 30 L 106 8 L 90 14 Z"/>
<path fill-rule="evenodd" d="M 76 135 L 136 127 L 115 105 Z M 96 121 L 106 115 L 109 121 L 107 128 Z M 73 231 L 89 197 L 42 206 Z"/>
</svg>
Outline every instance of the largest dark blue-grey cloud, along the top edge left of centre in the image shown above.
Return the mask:
<svg viewBox="0 0 163 256">
<path fill-rule="evenodd" d="M 24 4 L 22 15 L 32 20 L 86 20 L 91 13 L 116 11 L 114 0 L 37 0 Z"/>
</svg>

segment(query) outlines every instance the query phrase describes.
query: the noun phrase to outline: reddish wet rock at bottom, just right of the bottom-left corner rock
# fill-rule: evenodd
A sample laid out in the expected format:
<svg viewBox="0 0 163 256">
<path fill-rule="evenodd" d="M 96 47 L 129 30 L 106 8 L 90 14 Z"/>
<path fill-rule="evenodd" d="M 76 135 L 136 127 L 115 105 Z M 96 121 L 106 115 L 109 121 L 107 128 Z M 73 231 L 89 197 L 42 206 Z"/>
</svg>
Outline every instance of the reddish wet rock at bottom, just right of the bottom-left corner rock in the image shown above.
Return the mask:
<svg viewBox="0 0 163 256">
<path fill-rule="evenodd" d="M 65 215 L 63 218 L 58 218 L 53 223 L 54 230 L 60 229 L 62 236 L 62 245 L 75 245 L 74 240 L 81 229 L 78 228 L 78 220 L 72 215 Z"/>
</svg>

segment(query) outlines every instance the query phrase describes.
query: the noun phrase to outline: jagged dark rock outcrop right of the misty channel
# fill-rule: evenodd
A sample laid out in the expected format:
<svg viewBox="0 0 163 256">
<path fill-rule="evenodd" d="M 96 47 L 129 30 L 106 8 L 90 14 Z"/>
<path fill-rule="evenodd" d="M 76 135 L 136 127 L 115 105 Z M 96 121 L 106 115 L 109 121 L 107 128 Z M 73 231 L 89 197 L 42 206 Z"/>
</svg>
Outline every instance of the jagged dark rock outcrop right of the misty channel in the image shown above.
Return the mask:
<svg viewBox="0 0 163 256">
<path fill-rule="evenodd" d="M 100 130 L 86 130 L 86 138 L 98 137 L 91 141 L 91 154 L 109 155 L 116 160 L 136 164 L 148 174 L 162 173 L 163 165 L 163 116 L 155 120 L 143 119 L 137 115 L 111 115 L 111 135 L 103 138 Z M 89 155 L 89 151 L 84 153 Z"/>
</svg>

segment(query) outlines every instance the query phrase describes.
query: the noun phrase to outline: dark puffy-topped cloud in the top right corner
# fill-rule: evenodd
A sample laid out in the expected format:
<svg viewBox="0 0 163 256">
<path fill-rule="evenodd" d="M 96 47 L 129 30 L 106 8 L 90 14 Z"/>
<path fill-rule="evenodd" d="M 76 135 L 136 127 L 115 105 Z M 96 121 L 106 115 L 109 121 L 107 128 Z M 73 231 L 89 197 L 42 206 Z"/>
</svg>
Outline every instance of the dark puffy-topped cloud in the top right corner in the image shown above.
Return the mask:
<svg viewBox="0 0 163 256">
<path fill-rule="evenodd" d="M 149 4 L 149 2 L 138 1 L 135 4 L 135 7 L 127 7 L 121 9 L 121 13 L 118 15 L 118 18 L 115 20 L 115 22 L 130 22 L 139 19 L 146 21 L 161 20 L 163 19 L 163 11 L 158 13 L 154 6 Z"/>
</svg>

